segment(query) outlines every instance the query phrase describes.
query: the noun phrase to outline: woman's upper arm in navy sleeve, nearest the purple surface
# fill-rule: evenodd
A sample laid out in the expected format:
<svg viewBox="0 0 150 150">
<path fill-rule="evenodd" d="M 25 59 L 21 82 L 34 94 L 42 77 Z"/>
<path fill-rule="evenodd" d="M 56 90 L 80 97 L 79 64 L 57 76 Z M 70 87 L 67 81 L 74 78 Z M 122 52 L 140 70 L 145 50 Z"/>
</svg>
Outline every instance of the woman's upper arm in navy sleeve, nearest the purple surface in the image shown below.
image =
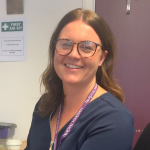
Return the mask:
<svg viewBox="0 0 150 150">
<path fill-rule="evenodd" d="M 80 150 L 131 150 L 134 121 L 130 112 L 111 110 L 95 118 Z"/>
</svg>

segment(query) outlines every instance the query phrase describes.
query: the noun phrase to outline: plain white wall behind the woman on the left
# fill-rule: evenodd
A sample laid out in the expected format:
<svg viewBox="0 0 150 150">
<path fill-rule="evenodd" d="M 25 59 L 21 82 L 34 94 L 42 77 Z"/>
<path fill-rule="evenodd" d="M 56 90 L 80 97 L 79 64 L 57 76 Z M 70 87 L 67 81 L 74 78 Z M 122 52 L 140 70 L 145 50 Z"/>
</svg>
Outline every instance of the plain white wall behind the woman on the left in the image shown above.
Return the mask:
<svg viewBox="0 0 150 150">
<path fill-rule="evenodd" d="M 24 0 L 23 15 L 7 15 L 6 0 L 0 1 L 0 19 L 27 19 L 27 61 L 0 62 L 0 122 L 17 124 L 14 139 L 27 138 L 53 29 L 64 14 L 79 7 L 82 0 Z"/>
</svg>

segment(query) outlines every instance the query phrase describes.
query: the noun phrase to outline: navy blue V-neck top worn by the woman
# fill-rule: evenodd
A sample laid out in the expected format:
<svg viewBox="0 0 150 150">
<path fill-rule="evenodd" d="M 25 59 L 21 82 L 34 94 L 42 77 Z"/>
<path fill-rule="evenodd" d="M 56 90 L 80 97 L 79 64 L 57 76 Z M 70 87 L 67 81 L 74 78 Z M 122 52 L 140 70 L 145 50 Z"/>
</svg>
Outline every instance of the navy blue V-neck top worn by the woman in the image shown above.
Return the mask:
<svg viewBox="0 0 150 150">
<path fill-rule="evenodd" d="M 69 123 L 59 131 L 57 143 Z M 59 150 L 131 150 L 133 134 L 131 112 L 107 92 L 86 106 Z M 33 113 L 25 150 L 49 150 L 50 141 L 49 117 L 41 118 Z"/>
</svg>

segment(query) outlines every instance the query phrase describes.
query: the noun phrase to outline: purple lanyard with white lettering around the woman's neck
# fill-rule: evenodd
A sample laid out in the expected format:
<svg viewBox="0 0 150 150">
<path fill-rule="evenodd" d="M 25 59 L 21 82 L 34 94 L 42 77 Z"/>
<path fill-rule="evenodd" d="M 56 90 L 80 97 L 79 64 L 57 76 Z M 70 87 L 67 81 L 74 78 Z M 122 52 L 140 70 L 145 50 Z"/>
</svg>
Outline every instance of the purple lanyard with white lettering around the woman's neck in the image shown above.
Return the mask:
<svg viewBox="0 0 150 150">
<path fill-rule="evenodd" d="M 98 89 L 98 85 L 97 85 L 97 83 L 95 83 L 94 88 L 92 89 L 92 91 L 90 92 L 90 94 L 88 95 L 88 97 L 86 98 L 84 103 L 82 104 L 81 108 L 78 110 L 78 112 L 76 113 L 74 118 L 71 120 L 70 124 L 68 125 L 67 129 L 63 133 L 63 135 L 62 135 L 62 137 L 60 139 L 60 143 L 59 143 L 58 149 L 60 147 L 60 144 L 65 140 L 65 138 L 70 133 L 71 129 L 73 128 L 74 124 L 76 123 L 76 121 L 80 117 L 80 115 L 81 115 L 82 111 L 84 110 L 84 108 L 87 106 L 87 104 L 93 98 L 93 96 L 96 93 L 97 89 Z M 56 150 L 56 146 L 57 146 L 57 136 L 58 136 L 58 129 L 59 129 L 59 123 L 60 123 L 61 110 L 62 110 L 61 108 L 62 108 L 62 104 L 60 104 L 60 106 L 59 106 L 59 112 L 58 112 L 58 117 L 57 117 L 57 124 L 56 124 L 56 130 L 55 130 L 55 138 L 54 138 L 54 150 Z"/>
</svg>

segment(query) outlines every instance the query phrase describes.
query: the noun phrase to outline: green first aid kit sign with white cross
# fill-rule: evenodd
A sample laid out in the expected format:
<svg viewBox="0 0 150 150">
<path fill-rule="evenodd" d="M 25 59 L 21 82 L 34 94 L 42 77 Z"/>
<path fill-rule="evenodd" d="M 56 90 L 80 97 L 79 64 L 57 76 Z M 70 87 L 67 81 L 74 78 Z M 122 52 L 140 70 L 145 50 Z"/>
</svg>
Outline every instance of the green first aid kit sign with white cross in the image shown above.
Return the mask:
<svg viewBox="0 0 150 150">
<path fill-rule="evenodd" d="M 23 21 L 2 22 L 1 31 L 2 32 L 23 31 Z"/>
</svg>

